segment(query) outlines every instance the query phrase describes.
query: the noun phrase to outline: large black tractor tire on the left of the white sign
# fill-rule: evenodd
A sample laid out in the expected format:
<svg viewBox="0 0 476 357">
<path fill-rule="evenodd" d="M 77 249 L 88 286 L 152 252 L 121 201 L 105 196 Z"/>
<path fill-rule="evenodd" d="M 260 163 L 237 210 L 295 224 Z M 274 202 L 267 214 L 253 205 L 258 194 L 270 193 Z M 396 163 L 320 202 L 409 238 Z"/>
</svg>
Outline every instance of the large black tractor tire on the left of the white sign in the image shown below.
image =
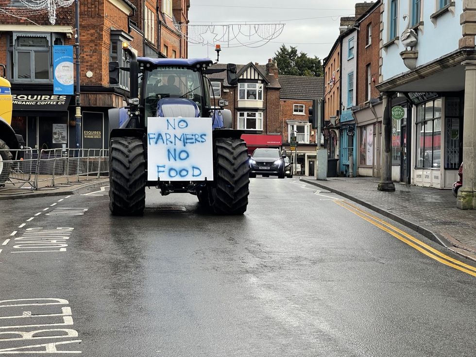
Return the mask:
<svg viewBox="0 0 476 357">
<path fill-rule="evenodd" d="M 145 208 L 145 155 L 136 137 L 111 138 L 109 209 L 115 216 L 141 216 Z"/>
</svg>

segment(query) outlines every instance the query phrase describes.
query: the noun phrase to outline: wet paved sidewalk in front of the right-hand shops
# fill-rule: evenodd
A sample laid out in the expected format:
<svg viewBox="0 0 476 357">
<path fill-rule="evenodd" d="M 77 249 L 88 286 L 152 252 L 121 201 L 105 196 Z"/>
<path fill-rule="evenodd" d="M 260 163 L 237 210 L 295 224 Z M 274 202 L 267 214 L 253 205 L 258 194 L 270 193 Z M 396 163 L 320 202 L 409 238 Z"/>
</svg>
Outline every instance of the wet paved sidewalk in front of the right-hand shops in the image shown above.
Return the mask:
<svg viewBox="0 0 476 357">
<path fill-rule="evenodd" d="M 451 190 L 395 183 L 395 192 L 381 192 L 374 177 L 300 181 L 336 192 L 476 261 L 476 210 L 456 208 Z"/>
</svg>

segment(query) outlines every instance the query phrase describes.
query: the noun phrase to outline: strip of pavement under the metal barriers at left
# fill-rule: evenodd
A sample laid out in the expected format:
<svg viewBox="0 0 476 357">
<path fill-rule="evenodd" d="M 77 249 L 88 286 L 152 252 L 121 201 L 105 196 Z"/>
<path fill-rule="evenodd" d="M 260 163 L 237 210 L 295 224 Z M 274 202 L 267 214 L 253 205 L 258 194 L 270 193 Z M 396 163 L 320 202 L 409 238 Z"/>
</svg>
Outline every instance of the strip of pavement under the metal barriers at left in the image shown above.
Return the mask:
<svg viewBox="0 0 476 357">
<path fill-rule="evenodd" d="M 18 198 L 80 194 L 87 192 L 91 188 L 109 185 L 109 178 L 104 176 L 99 178 L 80 176 L 78 182 L 68 183 L 66 177 L 60 177 L 54 179 L 54 186 L 51 186 L 51 183 L 50 175 L 40 175 L 38 178 L 38 189 L 36 190 L 32 190 L 29 183 L 24 184 L 20 188 L 20 184 L 7 184 L 5 187 L 0 187 L 0 201 Z"/>
</svg>

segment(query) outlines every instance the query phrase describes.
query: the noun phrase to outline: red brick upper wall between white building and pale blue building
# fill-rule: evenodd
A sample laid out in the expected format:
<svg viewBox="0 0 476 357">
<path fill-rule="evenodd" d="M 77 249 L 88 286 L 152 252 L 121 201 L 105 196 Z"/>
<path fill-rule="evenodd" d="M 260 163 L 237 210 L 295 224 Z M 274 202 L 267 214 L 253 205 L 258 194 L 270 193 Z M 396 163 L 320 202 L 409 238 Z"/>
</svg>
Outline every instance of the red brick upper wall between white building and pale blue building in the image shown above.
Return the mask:
<svg viewBox="0 0 476 357">
<path fill-rule="evenodd" d="M 372 44 L 366 47 L 367 26 L 372 24 Z M 379 91 L 375 88 L 378 84 L 379 57 L 380 57 L 380 7 L 366 17 L 359 25 L 357 32 L 357 105 L 366 102 L 365 88 L 367 85 L 366 66 L 370 64 L 371 98 L 377 98 Z"/>
</svg>

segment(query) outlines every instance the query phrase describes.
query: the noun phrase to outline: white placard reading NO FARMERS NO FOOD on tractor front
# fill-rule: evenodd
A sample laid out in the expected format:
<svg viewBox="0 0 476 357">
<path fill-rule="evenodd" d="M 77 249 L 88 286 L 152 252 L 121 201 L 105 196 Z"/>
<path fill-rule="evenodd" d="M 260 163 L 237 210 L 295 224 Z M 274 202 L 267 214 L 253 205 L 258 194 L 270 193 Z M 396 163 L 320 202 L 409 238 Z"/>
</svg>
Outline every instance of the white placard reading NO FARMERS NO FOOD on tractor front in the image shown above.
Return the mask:
<svg viewBox="0 0 476 357">
<path fill-rule="evenodd" d="M 148 118 L 148 181 L 213 181 L 211 118 Z"/>
</svg>

